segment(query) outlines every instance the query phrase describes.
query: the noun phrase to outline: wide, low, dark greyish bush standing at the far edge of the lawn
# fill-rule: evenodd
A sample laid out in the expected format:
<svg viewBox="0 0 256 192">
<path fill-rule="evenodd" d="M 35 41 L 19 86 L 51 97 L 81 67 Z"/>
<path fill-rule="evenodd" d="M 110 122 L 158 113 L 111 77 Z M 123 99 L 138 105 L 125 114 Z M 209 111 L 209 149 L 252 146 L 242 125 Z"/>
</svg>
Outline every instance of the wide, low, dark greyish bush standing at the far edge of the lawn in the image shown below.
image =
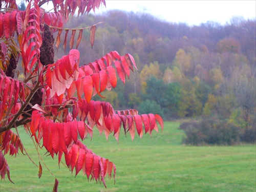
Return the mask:
<svg viewBox="0 0 256 192">
<path fill-rule="evenodd" d="M 241 129 L 225 120 L 206 119 L 201 122 L 186 122 L 180 125 L 186 137 L 183 143 L 201 145 L 233 145 L 240 141 Z"/>
</svg>

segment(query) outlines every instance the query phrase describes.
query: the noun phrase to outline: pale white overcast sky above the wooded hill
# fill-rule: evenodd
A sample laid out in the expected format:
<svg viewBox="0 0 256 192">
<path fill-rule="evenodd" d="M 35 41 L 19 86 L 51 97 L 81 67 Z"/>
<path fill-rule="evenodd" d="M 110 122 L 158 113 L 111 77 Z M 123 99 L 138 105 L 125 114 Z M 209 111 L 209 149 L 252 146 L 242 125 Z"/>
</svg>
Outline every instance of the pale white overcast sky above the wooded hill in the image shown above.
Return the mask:
<svg viewBox="0 0 256 192">
<path fill-rule="evenodd" d="M 105 0 L 106 8 L 101 6 L 97 13 L 112 9 L 145 12 L 159 19 L 173 23 L 186 23 L 190 26 L 200 25 L 208 20 L 222 25 L 232 16 L 245 19 L 256 17 L 256 0 L 250 1 L 174 1 L 174 0 Z M 145 8 L 145 10 L 143 10 Z"/>
</svg>

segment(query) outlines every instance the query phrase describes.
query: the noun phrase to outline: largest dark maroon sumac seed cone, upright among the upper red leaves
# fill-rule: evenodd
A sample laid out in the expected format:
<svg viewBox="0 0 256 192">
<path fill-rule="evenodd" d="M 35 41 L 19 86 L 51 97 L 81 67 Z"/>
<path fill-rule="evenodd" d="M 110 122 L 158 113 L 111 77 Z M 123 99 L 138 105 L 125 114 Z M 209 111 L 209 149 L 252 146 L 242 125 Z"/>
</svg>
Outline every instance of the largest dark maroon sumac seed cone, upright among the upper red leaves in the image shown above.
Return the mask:
<svg viewBox="0 0 256 192">
<path fill-rule="evenodd" d="M 54 63 L 54 37 L 48 25 L 44 25 L 42 45 L 40 47 L 40 62 L 46 66 Z"/>
</svg>

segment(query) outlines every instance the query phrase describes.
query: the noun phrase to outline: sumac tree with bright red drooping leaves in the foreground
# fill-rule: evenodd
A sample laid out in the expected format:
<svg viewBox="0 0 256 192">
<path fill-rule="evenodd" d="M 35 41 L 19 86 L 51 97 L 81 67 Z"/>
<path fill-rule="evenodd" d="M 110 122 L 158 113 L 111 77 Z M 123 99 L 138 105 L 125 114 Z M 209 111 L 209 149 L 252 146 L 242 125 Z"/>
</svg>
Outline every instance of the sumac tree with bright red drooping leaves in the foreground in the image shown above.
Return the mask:
<svg viewBox="0 0 256 192">
<path fill-rule="evenodd" d="M 7 175 L 11 181 L 5 156 L 26 153 L 18 132 L 27 131 L 47 154 L 57 156 L 58 162 L 64 159 L 75 175 L 81 171 L 88 179 L 91 177 L 105 185 L 105 176 L 115 177 L 115 164 L 94 154 L 81 142 L 88 135 L 92 137 L 93 127 L 104 132 L 106 138 L 112 133 L 117 140 L 123 127 L 124 133 L 130 133 L 133 139 L 136 132 L 142 137 L 143 127 L 144 133 L 158 131 L 157 121 L 163 129 L 163 120 L 157 114 L 138 115 L 136 110 L 115 111 L 108 102 L 92 100 L 93 96 L 115 88 L 117 76 L 125 83 L 130 70 L 137 69 L 130 54 L 120 56 L 116 51 L 79 66 L 80 53 L 72 48 L 75 40 L 76 48 L 79 45 L 84 29 L 65 29 L 63 25 L 75 11 L 78 15 L 95 11 L 101 4 L 105 5 L 104 0 L 26 2 L 26 10 L 20 11 L 15 0 L 0 1 L 1 179 Z M 54 11 L 40 8 L 45 3 L 52 3 Z M 91 26 L 91 46 L 95 31 L 96 26 Z M 63 47 L 66 49 L 69 40 L 71 49 L 55 62 L 54 32 L 56 47 L 62 41 L 63 32 Z M 67 39 L 69 32 L 71 38 Z M 17 70 L 17 65 L 22 70 Z M 40 178 L 40 163 L 38 167 Z M 55 179 L 54 191 L 57 186 Z"/>
</svg>

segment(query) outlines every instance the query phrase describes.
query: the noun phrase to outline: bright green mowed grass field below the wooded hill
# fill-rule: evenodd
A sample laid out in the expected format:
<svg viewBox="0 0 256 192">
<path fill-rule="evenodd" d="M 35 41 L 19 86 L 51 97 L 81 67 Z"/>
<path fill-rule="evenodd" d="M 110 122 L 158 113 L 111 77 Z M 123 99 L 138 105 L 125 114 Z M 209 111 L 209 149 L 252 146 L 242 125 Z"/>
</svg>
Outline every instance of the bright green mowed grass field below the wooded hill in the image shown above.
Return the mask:
<svg viewBox="0 0 256 192">
<path fill-rule="evenodd" d="M 138 135 L 134 141 L 120 133 L 119 143 L 110 136 L 99 137 L 94 128 L 92 141 L 86 139 L 94 153 L 116 164 L 116 184 L 106 178 L 107 188 L 87 177 L 74 174 L 57 158 L 43 159 L 59 181 L 59 191 L 255 191 L 255 145 L 239 146 L 186 146 L 181 144 L 184 133 L 178 122 L 165 122 L 164 131 L 152 137 Z M 20 130 L 23 143 L 34 162 L 38 155 L 31 139 Z M 43 156 L 45 150 L 40 150 Z M 7 176 L 0 183 L 0 191 L 52 191 L 55 178 L 42 164 L 42 177 L 38 168 L 22 154 L 16 158 L 6 156 L 11 179 Z M 63 157 L 64 160 L 64 157 Z"/>
</svg>

